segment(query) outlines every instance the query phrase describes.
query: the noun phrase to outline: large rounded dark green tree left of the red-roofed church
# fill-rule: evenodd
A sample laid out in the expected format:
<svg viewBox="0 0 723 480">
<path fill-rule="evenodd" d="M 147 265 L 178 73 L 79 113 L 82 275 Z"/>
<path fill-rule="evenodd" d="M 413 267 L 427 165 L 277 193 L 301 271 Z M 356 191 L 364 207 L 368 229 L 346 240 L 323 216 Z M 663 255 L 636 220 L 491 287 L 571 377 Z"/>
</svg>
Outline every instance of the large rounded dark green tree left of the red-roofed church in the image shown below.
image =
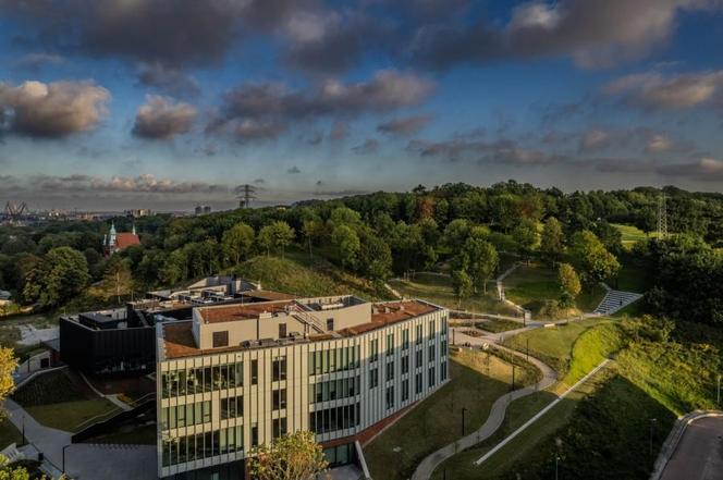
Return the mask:
<svg viewBox="0 0 723 480">
<path fill-rule="evenodd" d="M 42 307 L 57 307 L 81 294 L 89 279 L 83 254 L 71 247 L 52 248 L 28 274 L 23 296 Z"/>
</svg>

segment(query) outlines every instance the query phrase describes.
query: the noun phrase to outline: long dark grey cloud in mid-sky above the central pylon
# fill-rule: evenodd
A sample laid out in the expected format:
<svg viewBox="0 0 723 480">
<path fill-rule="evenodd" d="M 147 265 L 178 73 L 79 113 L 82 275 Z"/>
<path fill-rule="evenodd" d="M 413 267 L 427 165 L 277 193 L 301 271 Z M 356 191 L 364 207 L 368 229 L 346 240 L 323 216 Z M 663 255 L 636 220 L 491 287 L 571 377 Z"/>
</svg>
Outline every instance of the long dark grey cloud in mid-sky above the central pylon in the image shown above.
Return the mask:
<svg viewBox="0 0 723 480">
<path fill-rule="evenodd" d="M 221 112 L 207 130 L 218 132 L 237 124 L 273 125 L 275 135 L 266 137 L 275 138 L 292 121 L 389 112 L 422 102 L 433 89 L 434 84 L 428 79 L 390 70 L 377 72 L 365 82 L 326 79 L 303 90 L 290 90 L 279 83 L 244 84 L 226 94 Z"/>
</svg>

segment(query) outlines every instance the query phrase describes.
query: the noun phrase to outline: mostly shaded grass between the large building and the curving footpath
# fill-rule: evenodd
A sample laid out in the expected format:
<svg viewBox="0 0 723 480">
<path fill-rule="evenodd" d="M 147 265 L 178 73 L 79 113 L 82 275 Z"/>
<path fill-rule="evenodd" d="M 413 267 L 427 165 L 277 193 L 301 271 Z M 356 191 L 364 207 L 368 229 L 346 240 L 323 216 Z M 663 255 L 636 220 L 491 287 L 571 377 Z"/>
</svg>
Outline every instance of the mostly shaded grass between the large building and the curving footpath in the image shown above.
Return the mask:
<svg viewBox="0 0 723 480">
<path fill-rule="evenodd" d="M 463 349 L 451 360 L 448 384 L 365 447 L 373 478 L 409 478 L 425 456 L 462 436 L 463 408 L 469 433 L 485 423 L 494 401 L 511 389 L 512 367 L 495 355 Z M 516 357 L 515 364 L 523 367 L 516 371 L 516 385 L 539 380 L 537 368 Z"/>
</svg>

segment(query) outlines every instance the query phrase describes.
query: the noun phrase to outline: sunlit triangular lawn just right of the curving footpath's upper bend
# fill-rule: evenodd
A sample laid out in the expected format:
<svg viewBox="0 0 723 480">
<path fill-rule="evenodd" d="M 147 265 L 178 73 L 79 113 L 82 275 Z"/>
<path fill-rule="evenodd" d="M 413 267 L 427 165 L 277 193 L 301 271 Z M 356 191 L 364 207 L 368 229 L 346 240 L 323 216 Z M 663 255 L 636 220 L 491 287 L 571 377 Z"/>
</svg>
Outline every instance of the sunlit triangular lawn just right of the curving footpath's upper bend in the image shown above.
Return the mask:
<svg viewBox="0 0 723 480">
<path fill-rule="evenodd" d="M 519 352 L 526 352 L 527 342 L 529 341 L 530 355 L 554 368 L 562 378 L 569 369 L 573 346 L 577 339 L 588 329 L 610 321 L 612 320 L 593 318 L 530 330 L 506 339 L 504 345 Z"/>
</svg>

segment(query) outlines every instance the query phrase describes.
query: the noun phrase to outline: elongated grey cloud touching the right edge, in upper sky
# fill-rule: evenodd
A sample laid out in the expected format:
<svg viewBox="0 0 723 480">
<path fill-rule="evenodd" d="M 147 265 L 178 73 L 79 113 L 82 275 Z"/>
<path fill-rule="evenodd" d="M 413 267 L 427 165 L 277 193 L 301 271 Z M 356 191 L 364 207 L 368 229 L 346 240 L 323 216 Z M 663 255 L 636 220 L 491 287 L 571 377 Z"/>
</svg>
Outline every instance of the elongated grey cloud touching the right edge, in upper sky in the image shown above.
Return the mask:
<svg viewBox="0 0 723 480">
<path fill-rule="evenodd" d="M 645 110 L 723 107 L 723 71 L 663 75 L 626 75 L 603 87 L 609 96 Z"/>
</svg>

